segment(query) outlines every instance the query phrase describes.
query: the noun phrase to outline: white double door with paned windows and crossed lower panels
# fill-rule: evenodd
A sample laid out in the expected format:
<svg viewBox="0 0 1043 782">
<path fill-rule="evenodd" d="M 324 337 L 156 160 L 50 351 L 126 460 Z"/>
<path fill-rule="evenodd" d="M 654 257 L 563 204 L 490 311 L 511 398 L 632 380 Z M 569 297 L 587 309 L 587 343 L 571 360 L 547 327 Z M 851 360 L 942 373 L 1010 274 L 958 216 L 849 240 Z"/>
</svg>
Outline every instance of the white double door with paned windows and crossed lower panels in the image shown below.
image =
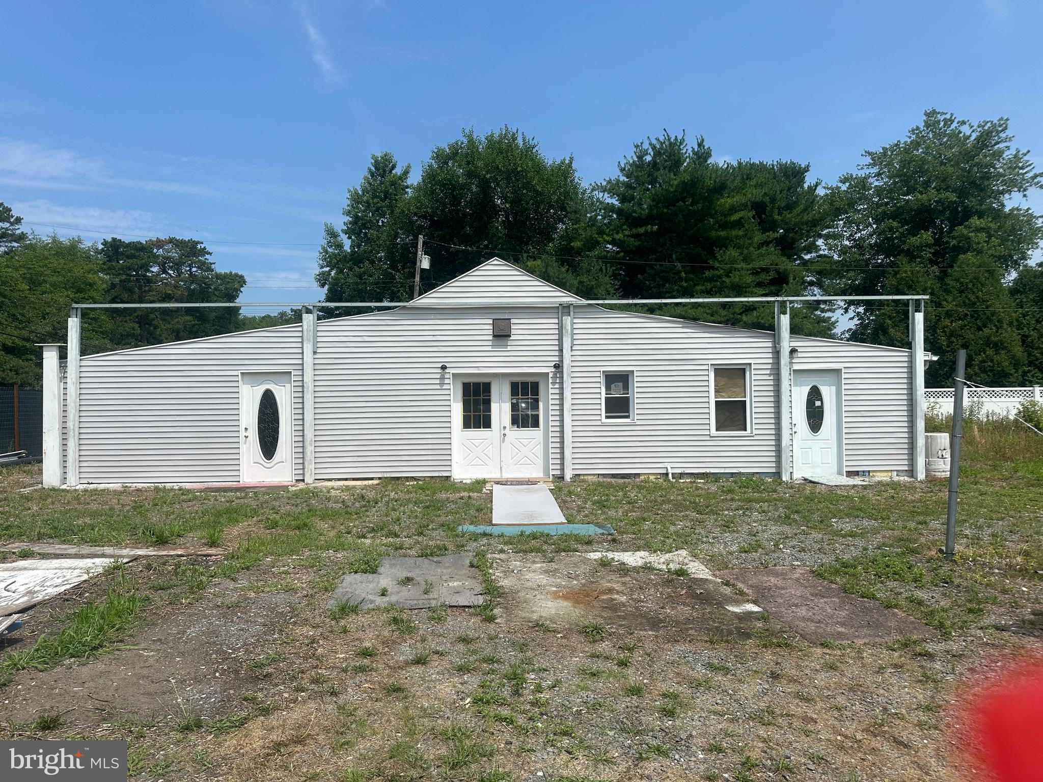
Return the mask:
<svg viewBox="0 0 1043 782">
<path fill-rule="evenodd" d="M 453 377 L 453 476 L 545 478 L 548 375 Z"/>
</svg>

